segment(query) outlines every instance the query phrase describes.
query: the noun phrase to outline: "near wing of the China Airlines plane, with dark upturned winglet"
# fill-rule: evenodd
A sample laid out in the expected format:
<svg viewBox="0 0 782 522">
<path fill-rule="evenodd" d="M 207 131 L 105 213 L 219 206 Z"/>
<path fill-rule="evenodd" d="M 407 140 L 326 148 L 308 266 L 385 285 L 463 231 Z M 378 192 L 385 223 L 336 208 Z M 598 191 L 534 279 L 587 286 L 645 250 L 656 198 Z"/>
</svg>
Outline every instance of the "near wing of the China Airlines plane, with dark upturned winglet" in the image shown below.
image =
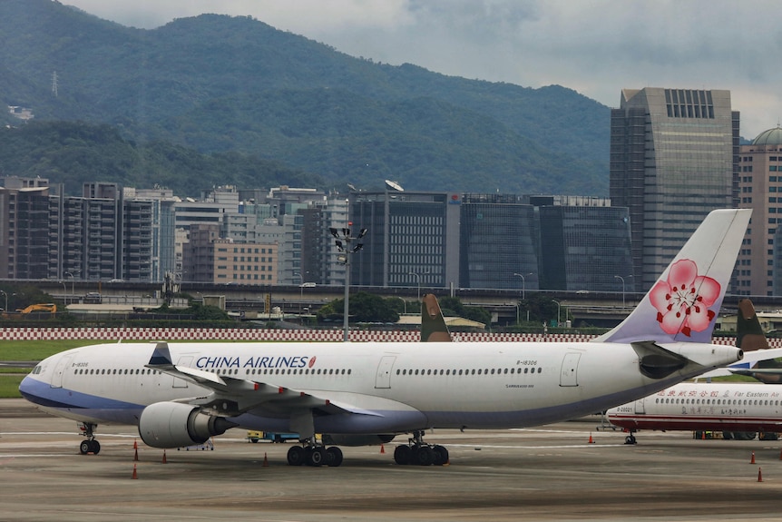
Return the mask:
<svg viewBox="0 0 782 522">
<path fill-rule="evenodd" d="M 178 366 L 172 362 L 171 351 L 165 342 L 157 343 L 146 367 L 210 389 L 210 394 L 207 396 L 183 399 L 182 402 L 199 406 L 204 412 L 212 415 L 234 417 L 250 409 L 262 408 L 278 415 L 317 410 L 320 415 L 379 416 L 374 411 L 357 408 L 344 401 L 335 402 L 318 397 L 307 391 Z"/>
</svg>

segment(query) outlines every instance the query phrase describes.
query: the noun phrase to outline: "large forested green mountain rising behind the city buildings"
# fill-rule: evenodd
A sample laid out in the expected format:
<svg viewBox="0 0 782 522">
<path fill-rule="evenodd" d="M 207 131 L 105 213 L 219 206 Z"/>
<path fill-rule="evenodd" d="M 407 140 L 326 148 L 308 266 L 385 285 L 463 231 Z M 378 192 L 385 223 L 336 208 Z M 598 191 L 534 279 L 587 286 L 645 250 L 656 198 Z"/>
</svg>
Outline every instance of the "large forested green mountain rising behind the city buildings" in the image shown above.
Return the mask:
<svg viewBox="0 0 782 522">
<path fill-rule="evenodd" d="M 372 189 L 392 179 L 411 190 L 608 193 L 610 111 L 600 103 L 560 86 L 376 64 L 249 17 L 141 30 L 49 0 L 2 0 L 0 103 L 30 109 L 37 123 L 81 122 L 28 125 L 12 142 L 32 140 L 38 153 L 0 152 L 0 171 L 68 187 L 157 179 L 185 193 L 273 180 Z M 7 113 L 0 122 L 20 125 Z M 63 139 L 48 150 L 55 133 Z M 103 157 L 106 144 L 90 136 L 104 133 L 127 161 Z M 83 158 L 65 162 L 73 141 Z M 193 172 L 197 163 L 216 173 Z"/>
</svg>

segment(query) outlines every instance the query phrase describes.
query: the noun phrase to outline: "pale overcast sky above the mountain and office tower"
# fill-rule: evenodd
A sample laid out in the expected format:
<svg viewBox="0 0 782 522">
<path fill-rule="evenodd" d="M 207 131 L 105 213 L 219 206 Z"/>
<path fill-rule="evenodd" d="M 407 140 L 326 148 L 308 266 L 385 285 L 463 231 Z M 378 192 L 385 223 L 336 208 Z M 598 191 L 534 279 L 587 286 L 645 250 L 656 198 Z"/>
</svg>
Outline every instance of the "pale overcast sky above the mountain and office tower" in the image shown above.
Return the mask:
<svg viewBox="0 0 782 522">
<path fill-rule="evenodd" d="M 728 89 L 752 139 L 782 119 L 777 0 L 61 0 L 122 25 L 251 15 L 387 64 L 524 87 L 560 84 L 610 107 L 622 88 Z"/>
</svg>

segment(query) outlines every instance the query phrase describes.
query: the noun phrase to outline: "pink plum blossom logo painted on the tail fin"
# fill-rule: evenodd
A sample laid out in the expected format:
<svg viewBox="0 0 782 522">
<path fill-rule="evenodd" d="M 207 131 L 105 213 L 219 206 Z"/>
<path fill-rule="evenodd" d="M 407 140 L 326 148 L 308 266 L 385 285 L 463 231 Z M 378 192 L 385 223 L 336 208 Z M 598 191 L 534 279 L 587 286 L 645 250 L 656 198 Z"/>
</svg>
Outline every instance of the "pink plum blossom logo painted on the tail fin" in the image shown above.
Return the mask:
<svg viewBox="0 0 782 522">
<path fill-rule="evenodd" d="M 698 275 L 694 261 L 676 261 L 670 267 L 668 281 L 658 281 L 650 291 L 660 328 L 687 337 L 692 331 L 706 330 L 716 315 L 709 307 L 719 299 L 720 288 L 717 281 Z"/>
</svg>

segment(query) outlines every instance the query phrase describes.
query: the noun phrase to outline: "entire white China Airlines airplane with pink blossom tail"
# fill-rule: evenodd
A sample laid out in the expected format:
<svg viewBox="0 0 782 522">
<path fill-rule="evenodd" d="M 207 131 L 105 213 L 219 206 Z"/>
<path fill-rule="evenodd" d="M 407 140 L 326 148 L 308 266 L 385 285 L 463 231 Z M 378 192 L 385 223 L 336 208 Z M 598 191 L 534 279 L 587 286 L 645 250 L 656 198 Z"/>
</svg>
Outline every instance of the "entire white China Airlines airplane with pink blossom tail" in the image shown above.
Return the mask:
<svg viewBox="0 0 782 522">
<path fill-rule="evenodd" d="M 709 213 L 630 316 L 591 342 L 102 344 L 44 359 L 19 389 L 83 423 L 85 454 L 100 450 L 98 424 L 121 423 L 154 448 L 230 428 L 298 433 L 288 463 L 311 466 L 410 434 L 396 463 L 440 465 L 448 451 L 427 428 L 572 419 L 741 359 L 710 340 L 750 212 Z"/>
</svg>

